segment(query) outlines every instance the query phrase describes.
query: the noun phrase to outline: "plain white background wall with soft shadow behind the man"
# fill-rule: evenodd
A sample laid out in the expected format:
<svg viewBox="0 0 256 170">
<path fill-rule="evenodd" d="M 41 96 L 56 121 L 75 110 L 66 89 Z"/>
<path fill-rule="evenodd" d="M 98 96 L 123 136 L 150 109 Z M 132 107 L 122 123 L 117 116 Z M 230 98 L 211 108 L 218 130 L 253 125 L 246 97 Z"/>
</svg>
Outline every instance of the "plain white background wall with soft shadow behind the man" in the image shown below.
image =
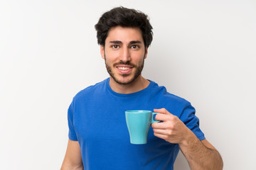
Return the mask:
<svg viewBox="0 0 256 170">
<path fill-rule="evenodd" d="M 224 169 L 255 169 L 255 0 L 1 1 L 0 169 L 60 169 L 73 96 L 108 77 L 94 25 L 120 5 L 151 18 L 144 77 L 191 101 Z"/>
</svg>

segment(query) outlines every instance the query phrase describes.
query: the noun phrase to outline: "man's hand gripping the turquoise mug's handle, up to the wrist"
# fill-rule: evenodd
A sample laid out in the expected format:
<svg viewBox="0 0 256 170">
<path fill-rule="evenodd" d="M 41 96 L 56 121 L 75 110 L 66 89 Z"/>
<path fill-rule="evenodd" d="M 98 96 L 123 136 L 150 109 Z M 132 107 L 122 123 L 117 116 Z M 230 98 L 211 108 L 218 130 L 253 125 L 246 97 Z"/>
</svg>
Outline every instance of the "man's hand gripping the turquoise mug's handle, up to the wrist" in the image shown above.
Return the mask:
<svg viewBox="0 0 256 170">
<path fill-rule="evenodd" d="M 165 108 L 154 109 L 154 112 L 160 113 L 156 115 L 155 120 L 162 121 L 151 125 L 156 137 L 160 137 L 170 143 L 182 144 L 186 142 L 191 130 L 176 115 L 172 115 Z"/>
</svg>

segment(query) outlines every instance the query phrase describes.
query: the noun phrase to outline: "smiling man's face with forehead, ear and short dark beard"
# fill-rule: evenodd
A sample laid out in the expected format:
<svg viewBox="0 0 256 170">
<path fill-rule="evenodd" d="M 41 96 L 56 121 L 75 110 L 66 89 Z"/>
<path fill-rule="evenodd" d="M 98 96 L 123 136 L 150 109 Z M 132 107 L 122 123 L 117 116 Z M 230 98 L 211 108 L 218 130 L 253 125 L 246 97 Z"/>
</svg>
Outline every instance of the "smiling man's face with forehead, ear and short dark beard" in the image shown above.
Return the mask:
<svg viewBox="0 0 256 170">
<path fill-rule="evenodd" d="M 147 48 L 139 28 L 111 28 L 100 52 L 107 72 L 118 84 L 131 84 L 141 76 Z"/>
</svg>

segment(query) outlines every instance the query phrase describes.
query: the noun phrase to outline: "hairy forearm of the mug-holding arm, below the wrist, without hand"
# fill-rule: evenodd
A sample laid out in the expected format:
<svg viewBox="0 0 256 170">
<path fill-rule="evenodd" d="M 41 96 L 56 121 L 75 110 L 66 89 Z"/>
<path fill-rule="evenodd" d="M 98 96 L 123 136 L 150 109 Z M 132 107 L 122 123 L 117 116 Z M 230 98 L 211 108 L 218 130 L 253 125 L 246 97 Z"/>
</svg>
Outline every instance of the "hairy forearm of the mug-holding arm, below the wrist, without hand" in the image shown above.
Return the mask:
<svg viewBox="0 0 256 170">
<path fill-rule="evenodd" d="M 191 133 L 186 142 L 179 145 L 191 169 L 223 169 L 223 160 L 216 149 L 210 149 Z"/>
</svg>

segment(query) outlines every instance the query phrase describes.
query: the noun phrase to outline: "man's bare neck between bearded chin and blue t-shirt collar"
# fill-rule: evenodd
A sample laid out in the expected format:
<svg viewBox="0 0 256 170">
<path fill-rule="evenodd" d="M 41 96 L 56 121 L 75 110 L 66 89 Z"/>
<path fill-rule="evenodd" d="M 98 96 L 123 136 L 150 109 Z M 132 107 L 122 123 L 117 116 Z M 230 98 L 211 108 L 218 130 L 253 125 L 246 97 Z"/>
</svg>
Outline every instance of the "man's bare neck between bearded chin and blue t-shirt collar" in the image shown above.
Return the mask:
<svg viewBox="0 0 256 170">
<path fill-rule="evenodd" d="M 118 94 L 132 94 L 141 91 L 149 86 L 149 83 L 150 82 L 142 76 L 139 76 L 131 84 L 118 84 L 112 77 L 110 77 L 110 87 Z"/>
</svg>

